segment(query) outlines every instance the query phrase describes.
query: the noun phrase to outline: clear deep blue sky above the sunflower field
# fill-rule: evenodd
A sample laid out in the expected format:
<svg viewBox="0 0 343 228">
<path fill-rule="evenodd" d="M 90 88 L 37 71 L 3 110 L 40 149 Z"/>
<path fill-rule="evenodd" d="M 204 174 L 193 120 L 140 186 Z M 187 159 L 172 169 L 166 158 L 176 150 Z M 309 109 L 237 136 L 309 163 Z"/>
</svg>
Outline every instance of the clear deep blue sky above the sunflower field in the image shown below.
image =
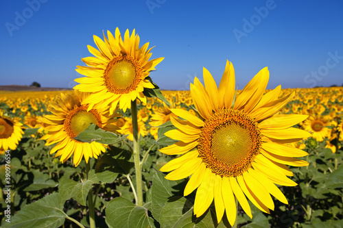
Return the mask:
<svg viewBox="0 0 343 228">
<path fill-rule="evenodd" d="M 38 4 L 39 3 L 39 4 Z M 162 89 L 188 90 L 206 67 L 219 84 L 226 59 L 239 89 L 268 66 L 268 88 L 343 84 L 343 1 L 1 0 L 0 85 L 72 88 L 93 34 L 136 29 Z"/>
</svg>

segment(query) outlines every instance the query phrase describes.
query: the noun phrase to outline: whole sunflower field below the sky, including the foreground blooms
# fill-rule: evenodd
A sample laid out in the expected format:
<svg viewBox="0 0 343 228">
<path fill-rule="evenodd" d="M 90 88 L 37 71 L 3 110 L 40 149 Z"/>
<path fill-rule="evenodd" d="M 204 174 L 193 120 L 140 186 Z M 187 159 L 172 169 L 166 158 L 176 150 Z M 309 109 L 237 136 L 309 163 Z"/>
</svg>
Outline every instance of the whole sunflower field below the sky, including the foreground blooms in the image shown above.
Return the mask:
<svg viewBox="0 0 343 228">
<path fill-rule="evenodd" d="M 342 87 L 161 91 L 135 31 L 94 40 L 74 90 L 0 91 L 1 227 L 343 227 Z"/>
</svg>

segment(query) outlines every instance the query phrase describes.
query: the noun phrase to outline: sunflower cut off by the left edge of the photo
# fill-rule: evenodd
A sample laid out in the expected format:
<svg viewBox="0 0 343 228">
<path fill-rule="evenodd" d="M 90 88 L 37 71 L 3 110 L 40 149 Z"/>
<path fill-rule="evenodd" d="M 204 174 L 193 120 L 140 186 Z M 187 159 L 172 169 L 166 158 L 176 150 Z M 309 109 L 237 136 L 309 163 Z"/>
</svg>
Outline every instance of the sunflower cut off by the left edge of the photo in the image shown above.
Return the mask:
<svg viewBox="0 0 343 228">
<path fill-rule="evenodd" d="M 24 134 L 21 126 L 23 124 L 20 122 L 20 118 L 5 117 L 0 112 L 0 148 L 5 151 L 16 149 Z"/>
</svg>

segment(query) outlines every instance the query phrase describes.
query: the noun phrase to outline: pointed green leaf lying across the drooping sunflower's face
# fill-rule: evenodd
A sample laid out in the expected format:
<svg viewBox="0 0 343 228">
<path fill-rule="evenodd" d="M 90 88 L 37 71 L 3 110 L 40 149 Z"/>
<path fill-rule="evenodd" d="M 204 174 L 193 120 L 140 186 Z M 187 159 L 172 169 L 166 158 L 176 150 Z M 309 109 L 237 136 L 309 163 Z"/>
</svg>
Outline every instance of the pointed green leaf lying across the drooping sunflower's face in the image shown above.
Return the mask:
<svg viewBox="0 0 343 228">
<path fill-rule="evenodd" d="M 118 136 L 110 131 L 104 131 L 97 127 L 97 125 L 91 123 L 84 131 L 80 132 L 75 140 L 81 142 L 99 142 L 102 144 L 115 144 L 126 138 L 126 136 Z"/>
</svg>

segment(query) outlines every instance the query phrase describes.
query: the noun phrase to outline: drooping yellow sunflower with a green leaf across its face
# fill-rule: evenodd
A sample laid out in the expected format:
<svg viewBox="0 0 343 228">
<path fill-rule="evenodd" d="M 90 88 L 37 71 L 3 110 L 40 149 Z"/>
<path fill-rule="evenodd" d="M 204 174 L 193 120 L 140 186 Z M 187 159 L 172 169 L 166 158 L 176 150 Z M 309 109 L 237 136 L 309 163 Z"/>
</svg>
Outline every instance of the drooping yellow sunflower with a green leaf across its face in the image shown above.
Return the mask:
<svg viewBox="0 0 343 228">
<path fill-rule="evenodd" d="M 101 129 L 115 132 L 119 129 L 114 124 L 115 115 L 108 115 L 108 109 L 95 105 L 88 110 L 88 105 L 82 105 L 82 101 L 87 97 L 87 93 L 78 92 L 74 94 L 61 94 L 60 99 L 51 104 L 49 111 L 51 115 L 43 118 L 43 123 L 47 124 L 45 130 L 49 131 L 41 139 L 47 140 L 46 146 L 57 143 L 51 153 L 56 153 L 55 157 L 61 156 L 63 163 L 73 154 L 75 166 L 80 164 L 82 157 L 88 163 L 90 157 L 95 157 L 105 152 L 105 145 L 99 142 L 80 142 L 74 138 L 84 131 L 90 123 L 95 123 Z"/>
</svg>

